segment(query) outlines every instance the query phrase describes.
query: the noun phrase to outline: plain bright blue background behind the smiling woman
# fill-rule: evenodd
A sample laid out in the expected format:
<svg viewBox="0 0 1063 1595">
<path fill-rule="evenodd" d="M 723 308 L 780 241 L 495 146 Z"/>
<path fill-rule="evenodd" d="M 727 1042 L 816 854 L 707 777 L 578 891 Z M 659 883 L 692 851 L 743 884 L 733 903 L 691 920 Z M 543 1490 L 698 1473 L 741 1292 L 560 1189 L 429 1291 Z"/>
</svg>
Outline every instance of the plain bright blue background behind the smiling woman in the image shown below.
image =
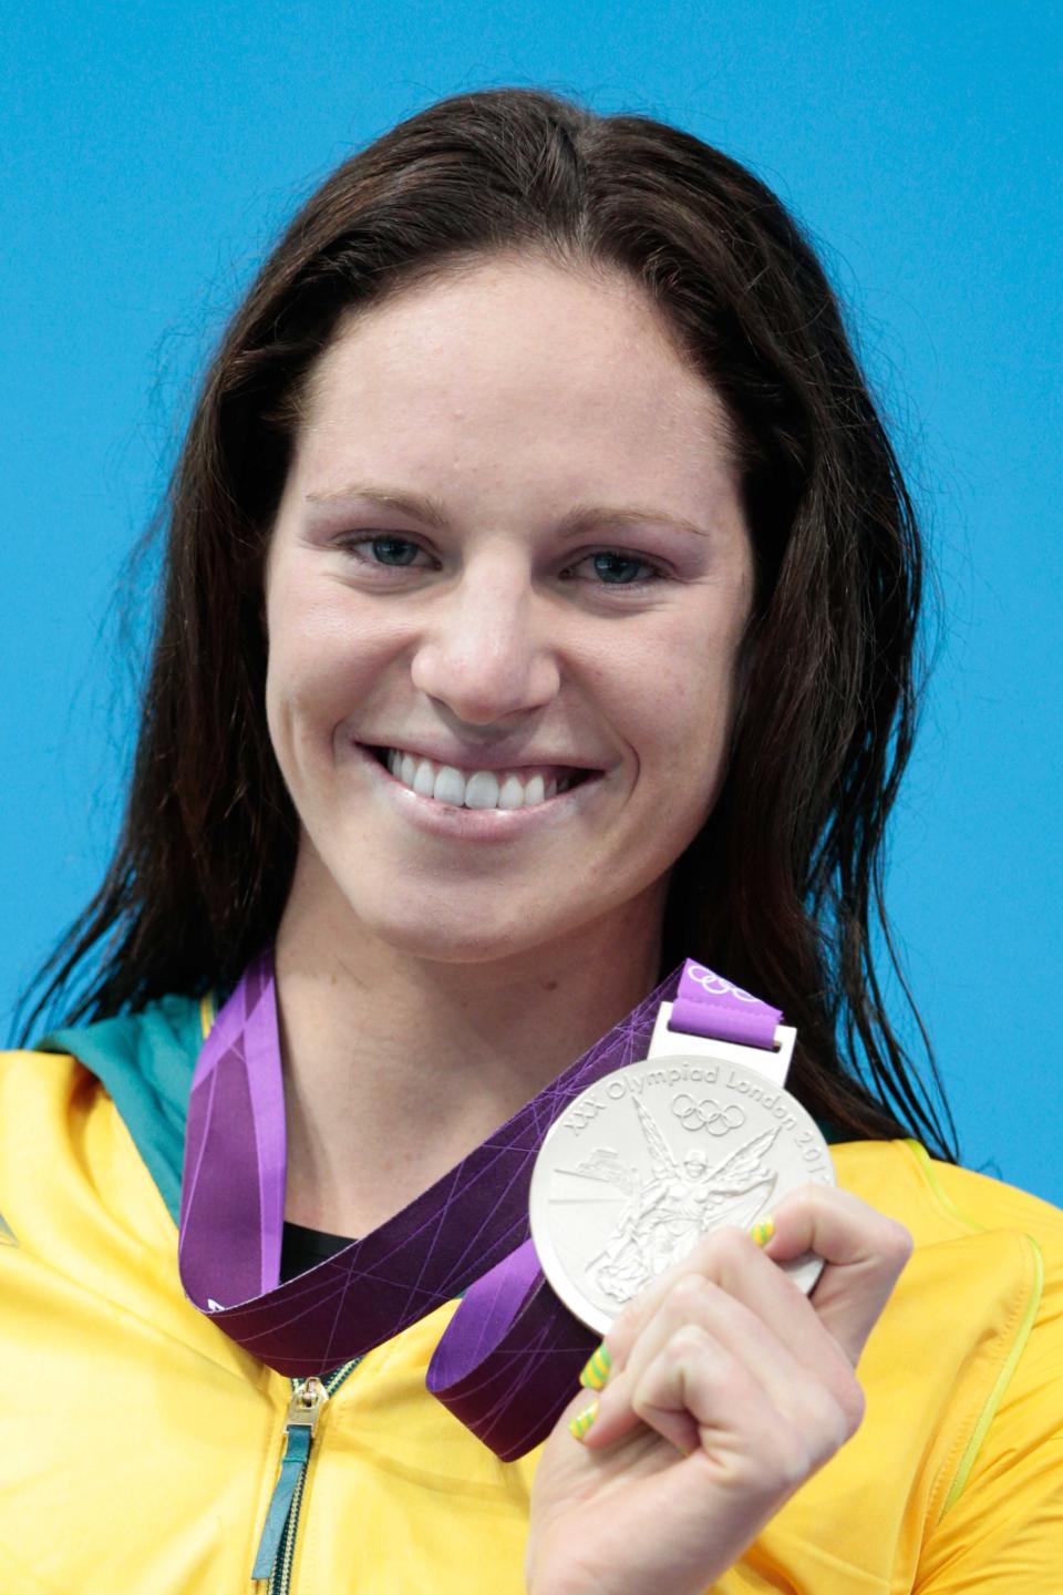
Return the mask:
<svg viewBox="0 0 1063 1595">
<path fill-rule="evenodd" d="M 115 584 L 257 262 L 398 118 L 542 85 L 746 161 L 851 306 L 943 592 L 889 904 L 966 1161 L 1063 1201 L 1061 41 L 1018 0 L 8 3 L 0 1011 L 107 858 Z"/>
</svg>

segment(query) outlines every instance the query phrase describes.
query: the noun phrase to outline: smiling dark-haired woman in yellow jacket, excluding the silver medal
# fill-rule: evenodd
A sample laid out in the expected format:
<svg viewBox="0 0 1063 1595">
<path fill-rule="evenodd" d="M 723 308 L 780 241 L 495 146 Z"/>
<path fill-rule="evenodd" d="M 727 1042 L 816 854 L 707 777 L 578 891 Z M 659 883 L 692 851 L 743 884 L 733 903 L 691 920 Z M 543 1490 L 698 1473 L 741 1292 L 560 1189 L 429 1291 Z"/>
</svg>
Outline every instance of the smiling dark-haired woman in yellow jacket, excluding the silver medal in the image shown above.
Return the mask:
<svg viewBox="0 0 1063 1595">
<path fill-rule="evenodd" d="M 918 538 L 778 201 L 642 118 L 429 108 L 266 262 L 169 522 L 46 998 L 97 973 L 3 1073 L 5 1587 L 1050 1587 L 1063 1227 L 953 1166 L 883 1011 Z M 687 954 L 797 1026 L 841 1188 L 704 1235 L 580 1389 L 513 1203 Z M 478 1361 L 507 1292 L 534 1369 L 508 1319 Z"/>
</svg>

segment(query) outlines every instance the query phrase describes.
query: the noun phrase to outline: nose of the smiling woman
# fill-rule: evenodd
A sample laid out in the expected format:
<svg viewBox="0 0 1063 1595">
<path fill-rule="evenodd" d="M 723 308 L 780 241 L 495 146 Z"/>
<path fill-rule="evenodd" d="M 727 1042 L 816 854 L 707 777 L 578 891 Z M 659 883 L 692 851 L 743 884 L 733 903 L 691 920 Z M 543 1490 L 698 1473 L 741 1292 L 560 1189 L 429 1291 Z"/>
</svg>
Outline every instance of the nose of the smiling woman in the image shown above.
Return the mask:
<svg viewBox="0 0 1063 1595">
<path fill-rule="evenodd" d="M 550 703 L 561 678 L 528 574 L 464 573 L 432 605 L 411 675 L 419 692 L 470 726 Z"/>
</svg>

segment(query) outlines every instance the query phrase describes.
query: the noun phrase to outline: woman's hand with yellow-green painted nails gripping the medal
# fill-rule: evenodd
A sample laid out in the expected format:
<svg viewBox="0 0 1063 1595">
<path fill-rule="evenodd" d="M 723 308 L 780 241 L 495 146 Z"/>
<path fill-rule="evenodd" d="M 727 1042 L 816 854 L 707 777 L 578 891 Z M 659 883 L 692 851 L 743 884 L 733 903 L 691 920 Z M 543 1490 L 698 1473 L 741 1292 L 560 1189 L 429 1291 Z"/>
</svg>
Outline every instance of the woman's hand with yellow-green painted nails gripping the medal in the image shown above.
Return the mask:
<svg viewBox="0 0 1063 1595">
<path fill-rule="evenodd" d="M 811 1298 L 776 1266 L 826 1258 Z M 700 1595 L 859 1428 L 854 1367 L 912 1238 L 805 1187 L 760 1249 L 706 1236 L 617 1319 L 596 1407 L 577 1397 L 532 1490 L 531 1595 Z"/>
</svg>

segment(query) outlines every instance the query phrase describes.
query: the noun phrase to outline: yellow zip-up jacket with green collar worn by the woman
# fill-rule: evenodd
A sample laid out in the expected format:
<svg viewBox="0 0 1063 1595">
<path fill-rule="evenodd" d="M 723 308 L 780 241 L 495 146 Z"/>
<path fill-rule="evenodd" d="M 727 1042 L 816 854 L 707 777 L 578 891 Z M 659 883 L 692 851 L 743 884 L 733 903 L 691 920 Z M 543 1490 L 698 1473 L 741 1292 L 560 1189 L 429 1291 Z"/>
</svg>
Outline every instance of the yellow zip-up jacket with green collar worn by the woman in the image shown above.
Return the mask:
<svg viewBox="0 0 1063 1595">
<path fill-rule="evenodd" d="M 188 1042 L 194 1010 L 169 1003 Z M 0 1592 L 263 1595 L 292 1383 L 182 1292 L 186 1080 L 159 1088 L 129 1056 L 108 1089 L 99 1062 L 0 1054 Z M 1063 1592 L 1063 1212 L 908 1142 L 834 1156 L 916 1250 L 861 1364 L 862 1428 L 714 1589 Z M 426 1392 L 449 1311 L 327 1404 L 292 1595 L 523 1590 L 537 1453 L 499 1463 Z"/>
</svg>

